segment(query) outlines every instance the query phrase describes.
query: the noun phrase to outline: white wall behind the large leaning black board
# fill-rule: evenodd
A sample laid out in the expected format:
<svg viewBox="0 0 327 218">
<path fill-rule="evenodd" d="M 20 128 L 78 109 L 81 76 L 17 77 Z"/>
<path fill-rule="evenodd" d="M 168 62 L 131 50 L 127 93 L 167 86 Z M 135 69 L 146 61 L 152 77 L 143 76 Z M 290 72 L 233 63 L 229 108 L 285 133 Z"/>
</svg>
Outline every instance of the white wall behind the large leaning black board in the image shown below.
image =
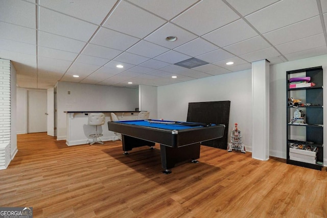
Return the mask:
<svg viewBox="0 0 327 218">
<path fill-rule="evenodd" d="M 230 101 L 228 136 L 235 123 L 251 149 L 251 69 L 158 87 L 158 118 L 185 121 L 190 102 Z M 229 140 L 229 137 L 228 137 Z"/>
</svg>

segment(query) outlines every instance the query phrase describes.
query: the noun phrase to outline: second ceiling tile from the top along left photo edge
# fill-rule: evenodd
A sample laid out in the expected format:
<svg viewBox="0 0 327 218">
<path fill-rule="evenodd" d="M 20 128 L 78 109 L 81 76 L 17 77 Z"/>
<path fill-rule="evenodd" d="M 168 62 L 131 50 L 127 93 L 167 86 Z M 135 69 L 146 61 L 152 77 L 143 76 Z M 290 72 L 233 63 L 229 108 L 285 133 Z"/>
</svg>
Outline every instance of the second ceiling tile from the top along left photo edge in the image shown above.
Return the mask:
<svg viewBox="0 0 327 218">
<path fill-rule="evenodd" d="M 36 44 L 35 29 L 12 25 L 0 21 L 0 38 Z"/>
</svg>

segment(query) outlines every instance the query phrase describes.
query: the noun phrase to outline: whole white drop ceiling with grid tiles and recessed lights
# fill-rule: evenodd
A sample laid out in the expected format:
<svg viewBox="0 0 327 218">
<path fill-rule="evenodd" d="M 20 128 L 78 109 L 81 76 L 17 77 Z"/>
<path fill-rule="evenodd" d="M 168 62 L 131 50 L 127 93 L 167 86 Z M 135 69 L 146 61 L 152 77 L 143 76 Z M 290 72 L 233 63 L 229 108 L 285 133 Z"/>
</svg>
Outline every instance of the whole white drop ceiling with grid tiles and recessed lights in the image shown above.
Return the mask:
<svg viewBox="0 0 327 218">
<path fill-rule="evenodd" d="M 19 87 L 163 86 L 327 54 L 326 23 L 325 0 L 1 0 L 0 58 Z"/>
</svg>

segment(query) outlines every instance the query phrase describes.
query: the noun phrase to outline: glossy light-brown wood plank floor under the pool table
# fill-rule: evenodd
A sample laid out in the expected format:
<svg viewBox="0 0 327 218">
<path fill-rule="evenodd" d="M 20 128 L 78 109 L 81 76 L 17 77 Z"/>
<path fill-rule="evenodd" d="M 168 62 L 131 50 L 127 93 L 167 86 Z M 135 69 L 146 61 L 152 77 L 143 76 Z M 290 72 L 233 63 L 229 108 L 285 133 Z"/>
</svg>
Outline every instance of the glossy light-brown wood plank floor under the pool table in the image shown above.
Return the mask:
<svg viewBox="0 0 327 218">
<path fill-rule="evenodd" d="M 0 206 L 33 207 L 34 217 L 327 217 L 327 167 L 202 146 L 200 163 L 165 175 L 159 146 L 124 156 L 121 141 L 67 147 L 46 133 L 17 141 L 0 171 Z"/>
</svg>

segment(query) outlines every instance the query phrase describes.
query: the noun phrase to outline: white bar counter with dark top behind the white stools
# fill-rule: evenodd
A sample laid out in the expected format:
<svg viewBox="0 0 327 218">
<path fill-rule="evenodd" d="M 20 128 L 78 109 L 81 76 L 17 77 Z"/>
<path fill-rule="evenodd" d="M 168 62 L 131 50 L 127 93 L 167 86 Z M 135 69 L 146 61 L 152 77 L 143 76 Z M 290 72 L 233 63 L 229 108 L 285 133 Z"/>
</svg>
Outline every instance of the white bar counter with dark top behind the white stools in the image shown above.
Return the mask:
<svg viewBox="0 0 327 218">
<path fill-rule="evenodd" d="M 96 126 L 87 125 L 89 113 L 104 113 L 106 122 L 98 126 L 98 133 L 102 141 L 111 141 L 114 133 L 108 130 L 108 122 L 111 121 L 111 113 L 115 113 L 120 120 L 136 119 L 139 111 L 64 111 L 67 116 L 67 146 L 77 146 L 87 144 L 91 141 L 89 135 L 95 134 Z"/>
</svg>

